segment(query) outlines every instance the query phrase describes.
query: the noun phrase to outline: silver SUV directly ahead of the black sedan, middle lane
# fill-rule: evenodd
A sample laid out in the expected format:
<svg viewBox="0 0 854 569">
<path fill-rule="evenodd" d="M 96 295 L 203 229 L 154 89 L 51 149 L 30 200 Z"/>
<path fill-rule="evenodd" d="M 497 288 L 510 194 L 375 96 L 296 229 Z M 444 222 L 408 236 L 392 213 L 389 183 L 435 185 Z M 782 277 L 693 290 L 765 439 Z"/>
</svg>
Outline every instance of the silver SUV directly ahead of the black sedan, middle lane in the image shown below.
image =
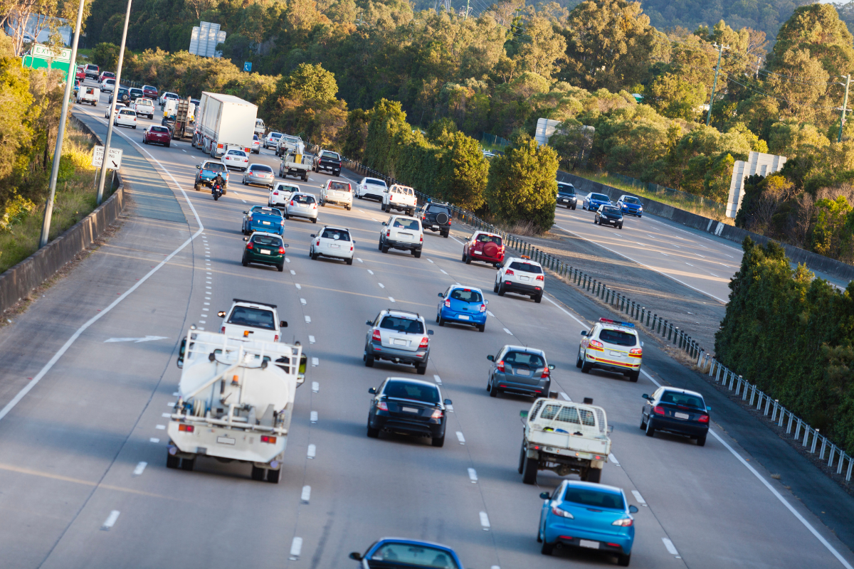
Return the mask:
<svg viewBox="0 0 854 569">
<path fill-rule="evenodd" d="M 417 312 L 380 311 L 376 318 L 365 322 L 371 328 L 365 335 L 365 365 L 372 368 L 376 360 L 407 363 L 418 369 L 418 374 L 427 372 L 430 358 L 430 338 L 424 318 Z"/>
</svg>

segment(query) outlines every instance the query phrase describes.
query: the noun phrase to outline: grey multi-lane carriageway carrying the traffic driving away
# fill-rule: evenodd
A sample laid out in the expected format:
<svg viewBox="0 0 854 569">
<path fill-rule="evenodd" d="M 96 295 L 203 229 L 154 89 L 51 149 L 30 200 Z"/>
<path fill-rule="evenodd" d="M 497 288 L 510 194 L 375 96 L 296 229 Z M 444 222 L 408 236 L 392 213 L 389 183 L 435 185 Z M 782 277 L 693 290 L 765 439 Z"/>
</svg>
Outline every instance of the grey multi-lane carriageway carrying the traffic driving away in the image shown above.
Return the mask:
<svg viewBox="0 0 854 569">
<path fill-rule="evenodd" d="M 75 113 L 105 131 L 99 108 Z M 428 232 L 422 258 L 380 253 L 386 214 L 372 201 L 357 201 L 350 212 L 321 208 L 318 224 L 287 222 L 284 273 L 243 267 L 242 212 L 266 204 L 266 190 L 241 185 L 232 172 L 227 195 L 213 201 L 192 191 L 200 151 L 185 142 L 143 147 L 141 129 L 118 134 L 136 200 L 131 217 L 0 332 L 0 352 L 8 355 L 0 364 L 3 567 L 354 567 L 349 552 L 387 535 L 446 543 L 474 569 L 609 565 L 594 553 L 540 554 L 538 495 L 559 478 L 541 473 L 538 486 L 522 484 L 518 414 L 530 402 L 490 398 L 485 390 L 487 355 L 512 343 L 547 352 L 561 397 L 592 397 L 606 409 L 615 429 L 602 482 L 622 487 L 640 507 L 632 566 L 850 567 L 851 552 L 781 482 L 753 466 L 714 411 L 705 447 L 644 436 L 640 396 L 664 380 L 681 385 L 681 378 L 661 376 L 656 362 L 666 356 L 649 339 L 648 373 L 638 383 L 581 374 L 579 331 L 600 315 L 581 297 L 576 305 L 565 287 L 539 305 L 499 297 L 493 268 L 459 262 L 459 228 L 453 239 Z M 251 159 L 277 160 L 263 150 Z M 301 186 L 316 192 L 326 179 L 313 174 Z M 556 223 L 576 230 L 577 213 L 559 212 Z M 308 258 L 309 235 L 325 223 L 351 229 L 352 266 Z M 614 236 L 609 247 L 650 264 L 655 241 L 682 247 L 672 229 L 660 228 L 648 241 L 636 239 L 649 247 L 633 251 L 625 243 L 632 233 L 623 229 L 623 241 Z M 703 245 L 709 260 L 695 264 L 711 270 L 722 251 Z M 705 251 L 697 243 L 684 248 L 688 263 Z M 728 264 L 734 268 L 738 259 Z M 719 288 L 731 271 L 717 274 L 681 277 L 725 299 Z M 436 293 L 454 282 L 483 289 L 485 333 L 432 324 Z M 194 472 L 165 467 L 162 427 L 175 401 L 179 338 L 191 323 L 216 329 L 215 312 L 235 297 L 277 304 L 290 323 L 285 340 L 299 340 L 317 358 L 297 392 L 279 485 L 213 460 L 197 461 Z M 391 375 L 421 377 L 412 368 L 362 363 L 365 321 L 386 307 L 418 311 L 436 331 L 425 377 L 453 399 L 443 448 L 366 437 L 368 388 Z"/>
</svg>

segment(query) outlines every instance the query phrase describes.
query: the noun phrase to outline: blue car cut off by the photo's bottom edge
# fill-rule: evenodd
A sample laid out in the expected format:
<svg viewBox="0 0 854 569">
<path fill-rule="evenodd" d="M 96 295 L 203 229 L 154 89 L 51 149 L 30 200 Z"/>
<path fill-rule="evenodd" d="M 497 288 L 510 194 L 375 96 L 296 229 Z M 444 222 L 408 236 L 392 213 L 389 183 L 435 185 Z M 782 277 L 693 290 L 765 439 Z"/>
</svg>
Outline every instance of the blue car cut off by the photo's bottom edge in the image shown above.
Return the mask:
<svg viewBox="0 0 854 569">
<path fill-rule="evenodd" d="M 431 569 L 463 569 L 453 549 L 440 543 L 422 542 L 401 537 L 383 537 L 371 545 L 365 554 L 354 551 L 350 559 L 360 561 L 362 569 L 389 567 L 430 567 Z"/>
</svg>

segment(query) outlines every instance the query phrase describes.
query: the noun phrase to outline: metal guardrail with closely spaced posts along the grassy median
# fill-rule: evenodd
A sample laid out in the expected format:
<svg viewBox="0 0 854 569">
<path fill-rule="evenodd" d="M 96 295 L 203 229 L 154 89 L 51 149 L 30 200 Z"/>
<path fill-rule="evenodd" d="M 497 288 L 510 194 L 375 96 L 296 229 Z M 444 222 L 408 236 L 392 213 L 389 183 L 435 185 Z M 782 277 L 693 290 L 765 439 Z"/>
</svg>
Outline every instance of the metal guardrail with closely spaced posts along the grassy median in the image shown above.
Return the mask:
<svg viewBox="0 0 854 569">
<path fill-rule="evenodd" d="M 352 171 L 362 173 L 366 176 L 378 177 L 389 184 L 398 183 L 395 178 L 386 176 L 382 172 L 369 168 L 359 162 L 354 162 L 353 160 L 348 160 L 346 158 L 343 160 L 348 163 L 348 168 Z M 429 195 L 419 192 L 418 190 L 415 190 L 415 195 L 418 196 L 419 205 L 431 200 Z M 658 314 L 649 311 L 646 306 L 641 306 L 624 294 L 618 293 L 617 290 L 608 287 L 604 282 L 598 281 L 582 270 L 564 263 L 562 259 L 553 257 L 553 255 L 541 251 L 539 248 L 534 247 L 527 241 L 524 241 L 524 239 L 518 237 L 518 235 L 509 234 L 506 231 L 495 227 L 493 224 L 488 224 L 483 221 L 483 219 L 478 218 L 474 213 L 467 212 L 458 206 L 451 205 L 450 209 L 460 221 L 470 224 L 476 230 L 485 230 L 490 233 L 501 235 L 502 239 L 505 240 L 506 245 L 515 249 L 518 253 L 528 255 L 543 267 L 551 270 L 556 275 L 563 277 L 564 281 L 570 285 L 580 287 L 582 290 L 593 294 L 597 299 L 600 299 L 606 305 L 611 306 L 612 309 L 618 310 L 626 316 L 629 316 L 635 320 L 635 322 L 639 322 L 640 325 L 645 327 L 648 332 L 661 336 L 662 340 L 666 341 L 668 344 L 672 342 L 674 347 L 686 352 L 687 356 L 690 357 L 692 361 L 696 362 L 701 372 L 705 373 L 706 366 L 708 366 L 708 374 L 710 377 L 715 378 L 716 383 L 720 383 L 722 381 L 722 385 L 727 385 L 727 382 L 729 382 L 729 391 L 732 391 L 733 387 L 735 387 L 735 395 L 739 395 L 741 393 L 742 400 L 747 399 L 747 392 L 750 391 L 750 405 L 753 406 L 753 402 L 756 400 L 757 409 L 761 410 L 764 404 L 765 409 L 763 411 L 763 416 L 768 416 L 770 413 L 770 421 L 776 421 L 778 427 L 783 426 L 786 416 L 788 415 L 786 433 L 792 433 L 792 427 L 794 426 L 794 439 L 801 440 L 801 430 L 803 429 L 804 434 L 802 446 L 806 447 L 811 441 L 810 454 L 816 454 L 816 448 L 818 448 L 819 460 L 822 461 L 824 460 L 825 452 L 828 450 L 829 445 L 830 454 L 828 467 L 833 467 L 834 457 L 839 456 L 835 464 L 837 465 L 836 473 L 841 474 L 845 461 L 848 461 L 848 469 L 845 471 L 845 481 L 851 481 L 851 472 L 854 470 L 854 457 L 845 453 L 845 451 L 839 448 L 839 446 L 828 440 L 824 435 L 820 434 L 818 429 L 810 427 L 810 425 L 805 421 L 795 416 L 792 411 L 783 407 L 777 399 L 771 398 L 768 393 L 757 389 L 757 386 L 748 383 L 741 375 L 736 375 L 734 371 L 724 367 L 722 363 L 718 362 L 714 357 L 711 357 L 711 354 L 700 346 L 697 340 L 693 340 L 690 334 L 687 334 L 685 330 L 681 330 L 678 326 L 674 326 L 672 322 L 668 322 L 666 318 L 662 318 L 661 316 L 658 316 Z"/>
</svg>

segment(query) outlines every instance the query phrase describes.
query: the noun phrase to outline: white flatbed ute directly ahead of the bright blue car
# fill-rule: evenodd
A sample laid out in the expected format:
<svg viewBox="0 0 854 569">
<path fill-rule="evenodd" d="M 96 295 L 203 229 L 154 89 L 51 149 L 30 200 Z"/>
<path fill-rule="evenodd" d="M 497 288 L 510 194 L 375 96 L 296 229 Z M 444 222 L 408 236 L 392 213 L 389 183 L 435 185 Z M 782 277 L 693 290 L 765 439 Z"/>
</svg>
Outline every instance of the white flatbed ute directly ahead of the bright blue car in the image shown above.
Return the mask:
<svg viewBox="0 0 854 569">
<path fill-rule="evenodd" d="M 559 476 L 576 473 L 586 482 L 600 481 L 611 454 L 605 409 L 538 398 L 520 415 L 524 437 L 519 473 L 525 484 L 536 484 L 538 470 L 552 470 Z"/>
</svg>

